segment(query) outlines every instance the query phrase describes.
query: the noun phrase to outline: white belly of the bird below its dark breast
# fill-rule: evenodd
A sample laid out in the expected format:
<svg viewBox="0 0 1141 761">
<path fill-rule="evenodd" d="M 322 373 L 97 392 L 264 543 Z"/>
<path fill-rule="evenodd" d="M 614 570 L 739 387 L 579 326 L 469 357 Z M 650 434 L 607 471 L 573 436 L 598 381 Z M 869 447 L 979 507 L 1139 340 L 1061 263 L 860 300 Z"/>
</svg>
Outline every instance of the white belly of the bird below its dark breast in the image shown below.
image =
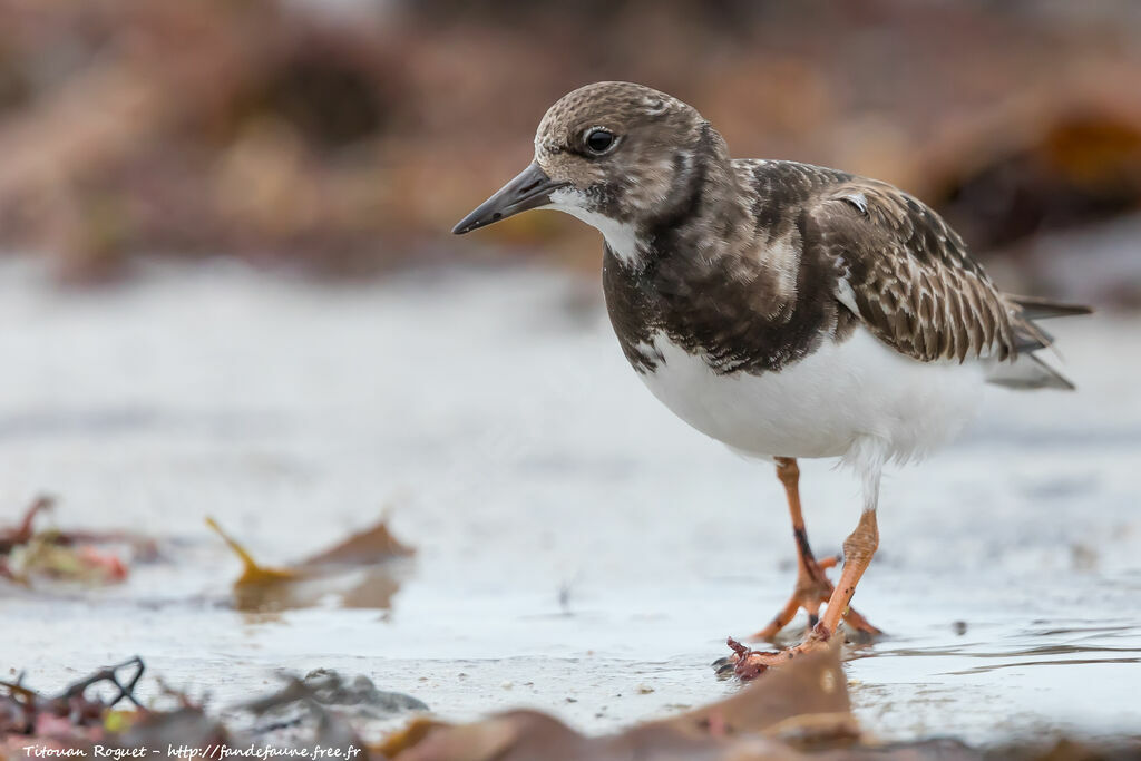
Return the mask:
<svg viewBox="0 0 1141 761">
<path fill-rule="evenodd" d="M 916 362 L 863 327 L 761 374 L 719 375 L 662 333 L 653 349 L 662 359 L 640 377 L 654 396 L 703 434 L 760 456 L 841 456 L 867 437 L 889 458 L 922 456 L 971 419 L 985 382 L 977 362 Z"/>
</svg>

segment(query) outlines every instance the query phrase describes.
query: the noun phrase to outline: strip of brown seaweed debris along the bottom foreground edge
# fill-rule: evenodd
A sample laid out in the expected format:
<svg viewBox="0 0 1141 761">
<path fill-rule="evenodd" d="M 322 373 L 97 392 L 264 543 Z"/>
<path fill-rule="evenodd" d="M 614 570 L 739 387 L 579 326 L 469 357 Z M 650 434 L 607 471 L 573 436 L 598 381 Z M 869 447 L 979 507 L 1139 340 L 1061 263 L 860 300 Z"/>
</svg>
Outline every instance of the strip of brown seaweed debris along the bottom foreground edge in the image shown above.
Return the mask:
<svg viewBox="0 0 1141 761">
<path fill-rule="evenodd" d="M 219 745 L 280 753 L 319 746 L 364 761 L 1095 761 L 1135 759 L 1141 751 L 1141 738 L 1104 745 L 1062 738 L 986 751 L 953 739 L 877 743 L 856 724 L 836 647 L 772 669 L 723 701 L 612 735 L 586 736 L 555 717 L 523 710 L 468 724 L 419 717 L 375 745 L 362 740 L 362 721 L 427 706 L 377 690 L 361 677 L 348 682 L 318 671 L 304 680 L 288 678 L 276 693 L 241 706 L 272 719 L 269 724 L 234 729 L 175 690 L 164 690 L 163 697 L 175 698 L 169 710 L 139 705 L 135 690 L 143 671 L 143 661 L 135 657 L 99 669 L 55 696 L 37 693 L 22 678 L 0 682 L 0 760 L 17 758 L 31 743 L 88 748 L 88 755 L 96 743 L 105 750 L 173 746 L 201 753 L 217 752 Z M 111 685 L 113 694 L 95 696 L 98 685 Z M 130 705 L 114 707 L 123 702 Z M 343 710 L 363 703 L 372 710 Z"/>
</svg>

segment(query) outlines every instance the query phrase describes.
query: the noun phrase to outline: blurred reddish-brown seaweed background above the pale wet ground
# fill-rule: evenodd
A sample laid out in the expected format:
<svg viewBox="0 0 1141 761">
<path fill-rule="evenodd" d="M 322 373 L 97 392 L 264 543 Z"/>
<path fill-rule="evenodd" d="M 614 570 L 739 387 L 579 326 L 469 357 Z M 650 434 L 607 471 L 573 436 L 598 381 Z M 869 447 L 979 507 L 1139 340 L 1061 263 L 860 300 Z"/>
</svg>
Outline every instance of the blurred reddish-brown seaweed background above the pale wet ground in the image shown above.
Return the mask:
<svg viewBox="0 0 1141 761">
<path fill-rule="evenodd" d="M 152 254 L 593 270 L 556 214 L 447 230 L 602 79 L 696 105 L 737 156 L 901 185 L 1035 281 L 1009 286 L 1141 299 L 1136 246 L 1038 245 L 1139 237 L 1131 0 L 0 0 L 0 245 L 76 281 Z"/>
</svg>

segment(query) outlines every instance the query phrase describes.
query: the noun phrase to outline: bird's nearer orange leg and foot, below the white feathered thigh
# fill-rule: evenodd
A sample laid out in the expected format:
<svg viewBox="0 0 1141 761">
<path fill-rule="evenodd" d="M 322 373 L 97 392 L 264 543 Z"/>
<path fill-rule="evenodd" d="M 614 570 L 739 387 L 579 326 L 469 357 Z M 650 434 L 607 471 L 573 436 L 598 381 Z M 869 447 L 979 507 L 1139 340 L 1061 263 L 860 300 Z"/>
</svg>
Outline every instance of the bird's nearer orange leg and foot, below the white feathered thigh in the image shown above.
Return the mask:
<svg viewBox="0 0 1141 761">
<path fill-rule="evenodd" d="M 730 639 L 729 647 L 736 650 L 737 654 L 734 658 L 737 675 L 743 679 L 755 677 L 769 666 L 787 663 L 801 653 L 825 646 L 832 639 L 832 635 L 836 633 L 841 620 L 844 620 L 849 615 L 848 605 L 851 602 L 852 594 L 856 593 L 856 585 L 867 569 L 868 564 L 872 562 L 872 556 L 875 554 L 879 545 L 880 531 L 875 523 L 875 510 L 865 510 L 860 516 L 856 531 L 844 540 L 844 568 L 840 574 L 840 581 L 828 598 L 828 607 L 824 612 L 824 617 L 820 622 L 816 624 L 812 632 L 803 642 L 779 653 L 748 650 Z"/>
</svg>

